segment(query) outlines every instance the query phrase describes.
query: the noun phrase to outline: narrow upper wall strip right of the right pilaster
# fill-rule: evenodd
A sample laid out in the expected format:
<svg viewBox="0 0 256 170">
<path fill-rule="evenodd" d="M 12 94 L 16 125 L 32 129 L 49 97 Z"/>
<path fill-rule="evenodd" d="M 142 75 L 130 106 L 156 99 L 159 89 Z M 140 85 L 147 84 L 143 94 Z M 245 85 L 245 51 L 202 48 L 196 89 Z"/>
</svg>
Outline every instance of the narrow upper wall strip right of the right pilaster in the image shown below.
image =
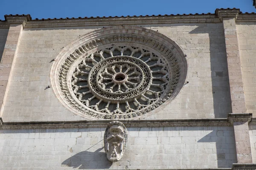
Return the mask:
<svg viewBox="0 0 256 170">
<path fill-rule="evenodd" d="M 256 114 L 256 23 L 236 25 L 247 113 Z"/>
</svg>

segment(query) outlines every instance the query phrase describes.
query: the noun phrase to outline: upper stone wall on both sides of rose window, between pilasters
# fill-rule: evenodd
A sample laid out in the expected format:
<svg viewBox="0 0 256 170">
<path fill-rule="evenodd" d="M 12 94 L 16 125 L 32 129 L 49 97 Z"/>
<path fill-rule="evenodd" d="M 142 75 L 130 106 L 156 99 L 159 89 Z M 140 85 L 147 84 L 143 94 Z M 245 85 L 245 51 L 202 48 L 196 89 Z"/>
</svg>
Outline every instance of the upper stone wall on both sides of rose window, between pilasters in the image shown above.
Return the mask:
<svg viewBox="0 0 256 170">
<path fill-rule="evenodd" d="M 146 25 L 172 40 L 186 53 L 188 74 L 177 97 L 145 119 L 224 118 L 231 113 L 222 23 Z M 3 111 L 3 120 L 81 120 L 56 99 L 49 72 L 63 47 L 96 27 L 25 28 Z"/>
</svg>

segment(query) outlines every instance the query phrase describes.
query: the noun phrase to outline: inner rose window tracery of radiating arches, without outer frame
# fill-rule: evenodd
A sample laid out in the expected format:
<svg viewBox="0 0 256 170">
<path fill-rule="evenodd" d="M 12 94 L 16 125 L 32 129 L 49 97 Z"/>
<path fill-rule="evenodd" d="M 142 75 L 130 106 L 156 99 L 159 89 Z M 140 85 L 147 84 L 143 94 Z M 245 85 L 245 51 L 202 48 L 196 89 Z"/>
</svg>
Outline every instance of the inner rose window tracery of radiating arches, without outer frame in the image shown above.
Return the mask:
<svg viewBox="0 0 256 170">
<path fill-rule="evenodd" d="M 153 105 L 170 83 L 166 61 L 131 46 L 105 48 L 76 66 L 72 89 L 82 105 L 105 114 L 138 112 Z"/>
</svg>

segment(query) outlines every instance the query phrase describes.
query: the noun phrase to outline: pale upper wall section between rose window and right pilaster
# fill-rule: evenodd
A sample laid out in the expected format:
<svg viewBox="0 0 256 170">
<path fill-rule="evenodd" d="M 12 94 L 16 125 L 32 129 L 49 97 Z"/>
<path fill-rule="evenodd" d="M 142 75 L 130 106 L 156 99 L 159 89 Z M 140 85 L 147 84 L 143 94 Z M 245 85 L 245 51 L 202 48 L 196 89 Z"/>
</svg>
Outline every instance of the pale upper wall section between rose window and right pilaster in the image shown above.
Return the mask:
<svg viewBox="0 0 256 170">
<path fill-rule="evenodd" d="M 188 74 L 177 97 L 148 119 L 223 118 L 231 113 L 222 23 L 151 27 L 187 54 Z"/>
</svg>

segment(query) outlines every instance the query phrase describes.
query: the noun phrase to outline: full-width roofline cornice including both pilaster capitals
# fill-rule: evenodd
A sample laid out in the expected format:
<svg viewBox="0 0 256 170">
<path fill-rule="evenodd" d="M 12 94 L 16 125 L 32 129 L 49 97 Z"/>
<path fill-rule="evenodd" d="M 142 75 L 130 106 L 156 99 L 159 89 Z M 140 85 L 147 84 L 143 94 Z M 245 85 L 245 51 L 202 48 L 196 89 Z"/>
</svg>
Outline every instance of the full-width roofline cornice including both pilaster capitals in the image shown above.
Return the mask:
<svg viewBox="0 0 256 170">
<path fill-rule="evenodd" d="M 32 20 L 27 15 L 5 15 L 5 20 L 0 20 L 0 28 L 9 28 L 10 23 L 22 23 L 24 28 L 58 28 L 58 27 L 79 27 L 95 26 L 130 26 L 130 25 L 164 25 L 176 23 L 220 23 L 225 17 L 235 17 L 236 22 L 256 22 L 256 13 L 240 12 L 237 8 L 220 8 L 215 14 L 165 14 L 145 16 L 121 16 L 121 17 L 78 17 L 78 18 L 48 18 Z"/>
</svg>

